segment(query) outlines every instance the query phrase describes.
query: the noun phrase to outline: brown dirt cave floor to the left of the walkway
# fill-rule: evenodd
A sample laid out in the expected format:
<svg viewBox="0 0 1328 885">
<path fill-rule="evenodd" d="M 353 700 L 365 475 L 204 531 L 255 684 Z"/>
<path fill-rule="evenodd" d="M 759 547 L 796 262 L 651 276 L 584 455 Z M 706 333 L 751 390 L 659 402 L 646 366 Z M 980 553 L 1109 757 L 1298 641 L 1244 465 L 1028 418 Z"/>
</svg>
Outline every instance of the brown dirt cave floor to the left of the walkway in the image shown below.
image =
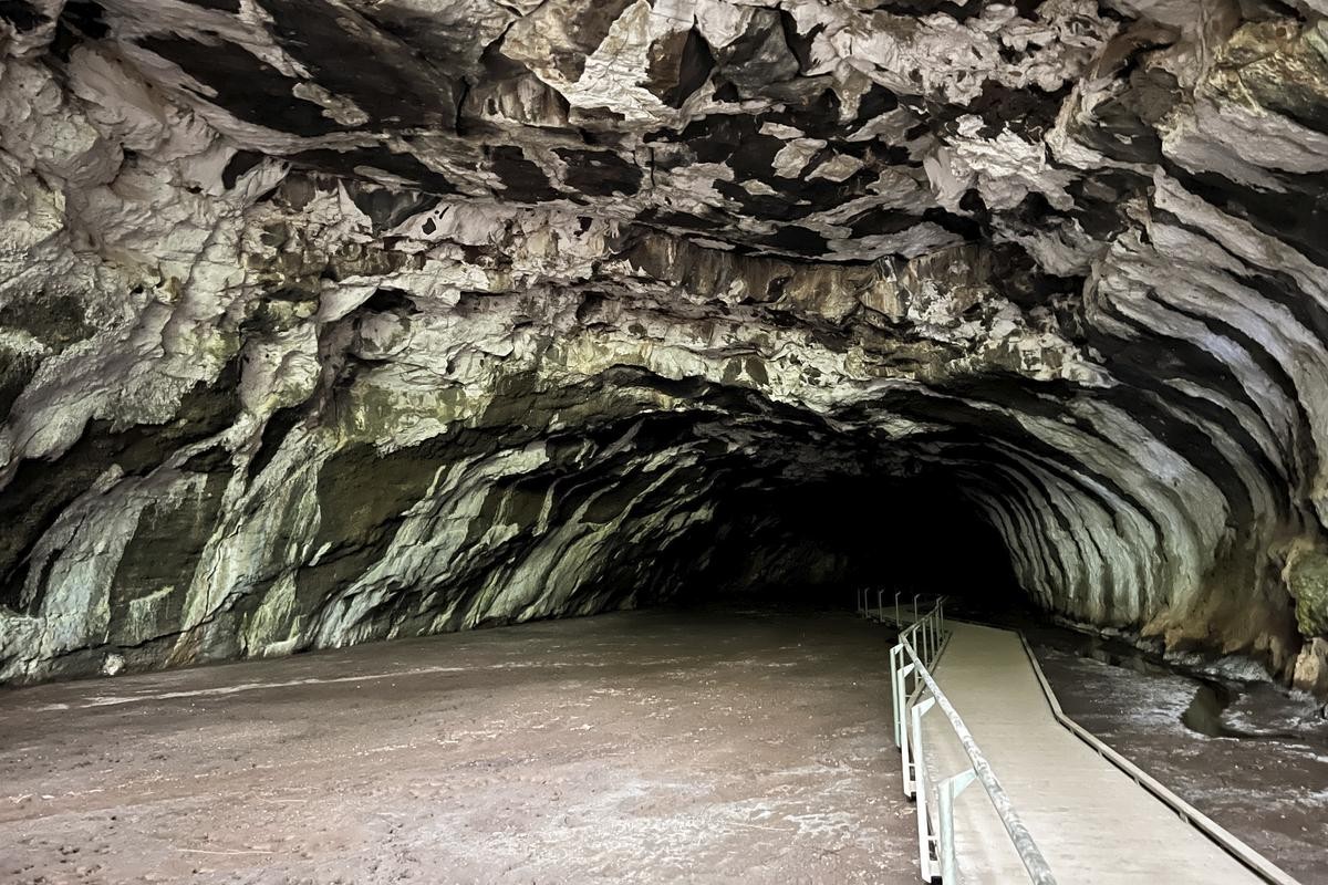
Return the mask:
<svg viewBox="0 0 1328 885">
<path fill-rule="evenodd" d="M 912 882 L 886 634 L 628 612 L 0 694 L 5 882 Z"/>
</svg>

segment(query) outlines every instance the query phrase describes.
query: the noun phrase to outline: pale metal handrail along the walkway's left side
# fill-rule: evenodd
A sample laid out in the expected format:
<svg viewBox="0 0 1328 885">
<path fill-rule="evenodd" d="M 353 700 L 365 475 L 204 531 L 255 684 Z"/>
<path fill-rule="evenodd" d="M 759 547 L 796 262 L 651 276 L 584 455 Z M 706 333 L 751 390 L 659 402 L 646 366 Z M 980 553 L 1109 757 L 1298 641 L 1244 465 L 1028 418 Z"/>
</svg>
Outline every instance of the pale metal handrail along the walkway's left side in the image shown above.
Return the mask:
<svg viewBox="0 0 1328 885">
<path fill-rule="evenodd" d="M 955 881 L 954 800 L 964 787 L 976 779 L 981 783 L 983 789 L 987 791 L 992 807 L 996 809 L 1001 824 L 1005 827 L 1005 832 L 1015 844 L 1015 851 L 1019 853 L 1024 869 L 1028 870 L 1029 880 L 1035 885 L 1056 885 L 1056 878 L 1052 876 L 1052 869 L 1046 858 L 1042 857 L 1041 851 L 1038 851 L 1037 844 L 1033 841 L 1032 833 L 1028 832 L 1024 821 L 1020 820 L 1013 803 L 1000 785 L 1000 780 L 996 779 L 991 763 L 983 756 L 977 742 L 973 740 L 972 734 L 964 726 L 964 720 L 950 703 L 950 699 L 946 698 L 946 693 L 932 679 L 928 670 L 928 666 L 935 663 L 944 647 L 944 605 L 946 600 L 940 597 L 930 612 L 902 630 L 899 633 L 899 644 L 890 653 L 895 743 L 900 748 L 904 792 L 916 796 L 918 800 L 918 862 L 922 868 L 922 878 L 923 881 L 931 881 L 939 874 L 943 882 Z M 904 654 L 908 657 L 908 663 L 903 662 Z M 910 675 L 915 677 L 911 693 L 906 690 Z M 919 695 L 923 689 L 931 695 L 930 698 L 920 699 Z M 972 763 L 972 767 L 967 771 L 961 771 L 938 784 L 936 797 L 940 832 L 935 837 L 935 860 L 931 851 L 934 837 L 928 832 L 931 821 L 927 815 L 927 774 L 922 748 L 922 716 L 932 706 L 939 706 L 946 718 L 950 719 L 951 728 L 954 728 L 959 743 L 964 747 L 964 752 L 968 754 L 968 760 Z M 910 724 L 912 726 L 912 734 L 910 734 Z M 911 758 L 910 750 L 912 754 Z M 910 792 L 911 787 L 914 792 Z"/>
</svg>

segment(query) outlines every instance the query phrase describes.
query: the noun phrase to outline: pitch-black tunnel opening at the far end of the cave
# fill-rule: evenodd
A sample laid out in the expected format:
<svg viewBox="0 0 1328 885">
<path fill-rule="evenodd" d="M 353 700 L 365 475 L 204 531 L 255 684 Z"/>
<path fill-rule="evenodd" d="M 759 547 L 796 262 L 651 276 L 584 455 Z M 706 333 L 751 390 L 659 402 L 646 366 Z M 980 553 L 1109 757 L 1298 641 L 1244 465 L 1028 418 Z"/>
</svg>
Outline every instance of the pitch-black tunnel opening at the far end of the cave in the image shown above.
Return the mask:
<svg viewBox="0 0 1328 885">
<path fill-rule="evenodd" d="M 940 470 L 738 488 L 692 555 L 673 604 L 842 609 L 865 588 L 871 605 L 944 594 L 975 613 L 1031 610 L 1005 543 Z"/>
</svg>

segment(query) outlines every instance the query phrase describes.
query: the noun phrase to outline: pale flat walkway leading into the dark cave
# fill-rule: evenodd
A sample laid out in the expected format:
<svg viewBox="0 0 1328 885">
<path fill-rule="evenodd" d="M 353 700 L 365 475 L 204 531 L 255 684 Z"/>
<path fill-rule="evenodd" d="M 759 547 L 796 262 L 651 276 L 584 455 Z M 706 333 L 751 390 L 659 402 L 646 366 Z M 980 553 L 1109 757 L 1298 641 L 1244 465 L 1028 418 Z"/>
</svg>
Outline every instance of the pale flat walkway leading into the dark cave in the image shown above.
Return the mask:
<svg viewBox="0 0 1328 885">
<path fill-rule="evenodd" d="M 1016 633 L 947 626 L 935 679 L 1060 885 L 1263 881 L 1054 719 Z M 968 768 L 944 714 L 932 710 L 923 723 L 928 783 Z M 955 847 L 963 882 L 1028 881 L 981 784 L 955 801 Z"/>
</svg>

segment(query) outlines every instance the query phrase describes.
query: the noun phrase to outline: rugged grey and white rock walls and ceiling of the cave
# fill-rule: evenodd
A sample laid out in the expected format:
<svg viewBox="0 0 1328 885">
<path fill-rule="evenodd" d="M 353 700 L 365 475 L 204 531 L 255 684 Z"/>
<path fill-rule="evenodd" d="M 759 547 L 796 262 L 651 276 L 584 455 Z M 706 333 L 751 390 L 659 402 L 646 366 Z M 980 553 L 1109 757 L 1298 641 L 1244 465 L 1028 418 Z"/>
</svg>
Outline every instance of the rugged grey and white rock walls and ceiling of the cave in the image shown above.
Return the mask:
<svg viewBox="0 0 1328 885">
<path fill-rule="evenodd" d="M 888 585 L 788 527 L 935 487 L 1325 690 L 1324 13 L 0 1 L 0 678 Z"/>
</svg>

